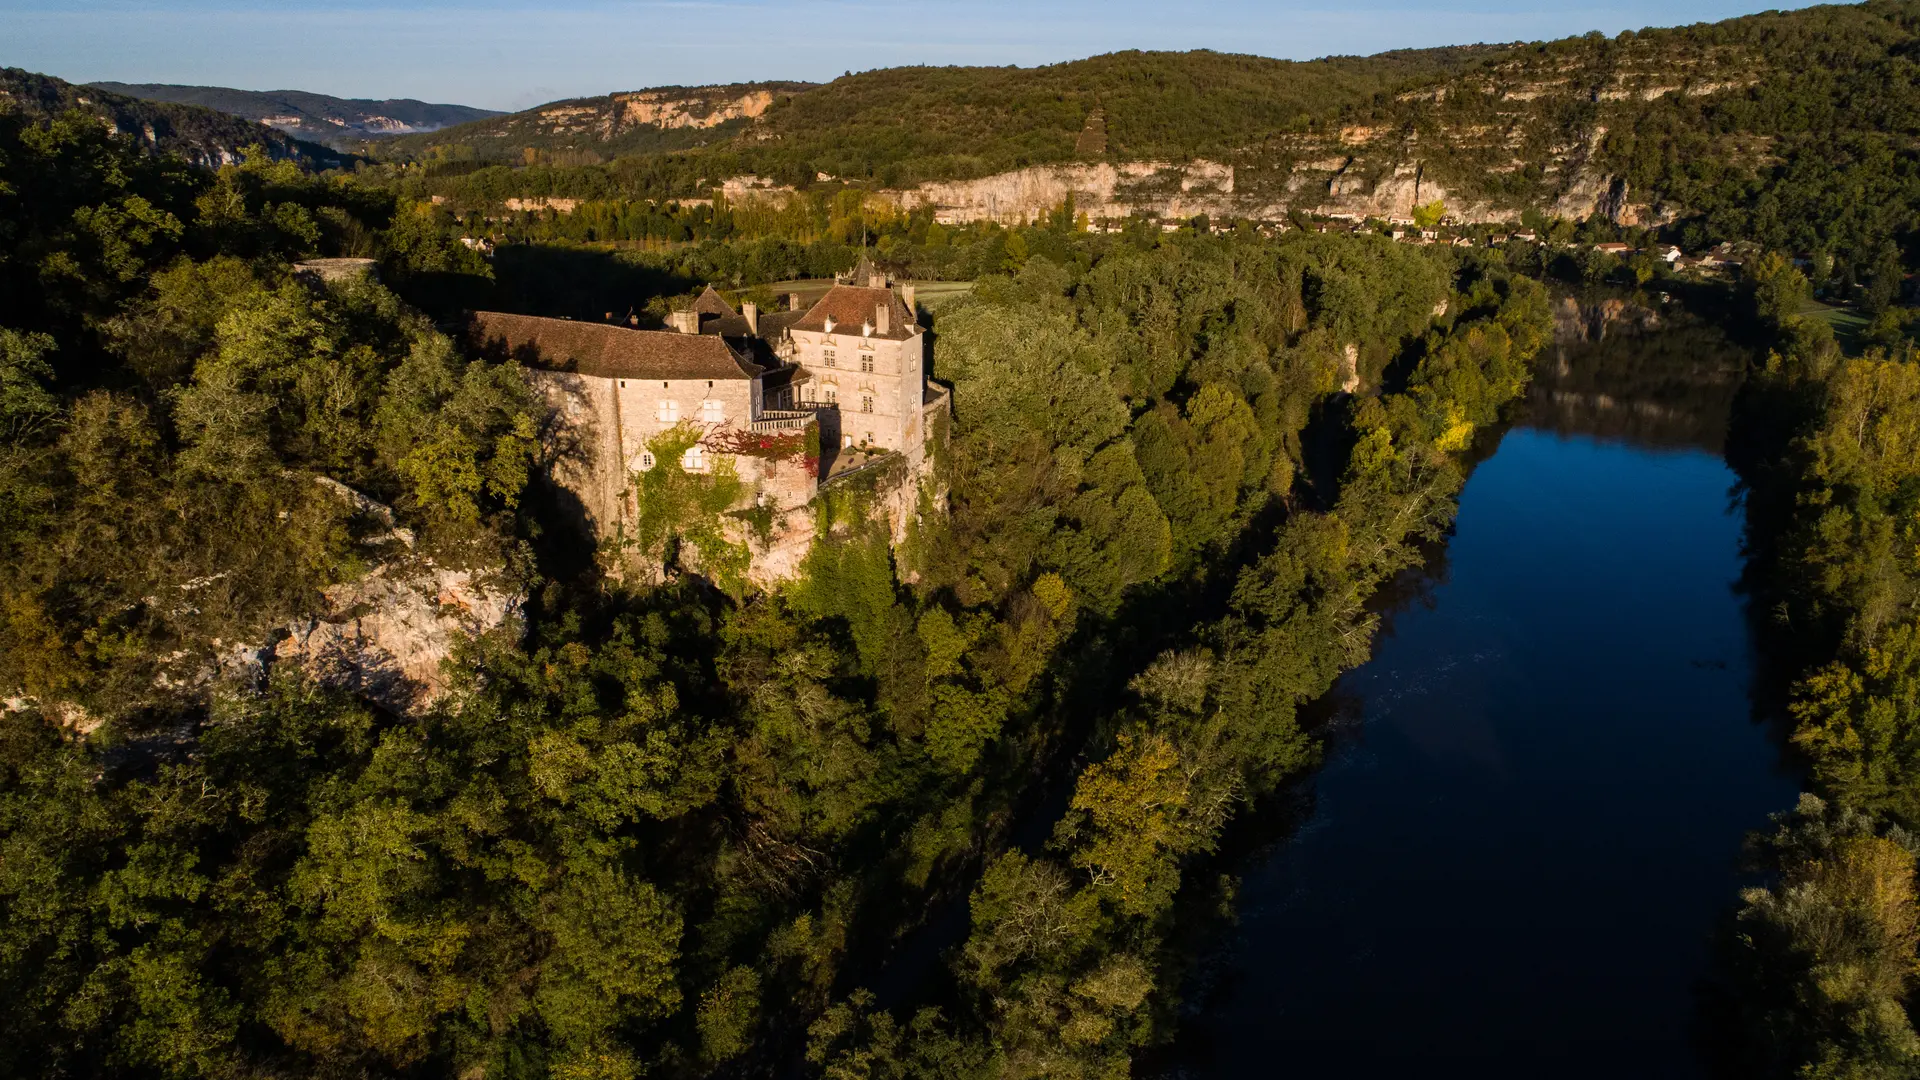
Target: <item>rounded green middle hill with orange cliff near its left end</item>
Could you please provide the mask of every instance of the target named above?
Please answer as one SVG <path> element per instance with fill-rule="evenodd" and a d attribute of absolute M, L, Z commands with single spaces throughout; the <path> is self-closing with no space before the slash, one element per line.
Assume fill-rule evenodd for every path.
<path fill-rule="evenodd" d="M 1308 61 L 1129 50 L 1044 67 L 885 67 L 820 86 L 659 86 L 396 138 L 380 154 L 520 161 L 532 150 L 557 163 L 589 163 L 726 146 L 783 183 L 829 173 L 887 184 L 1085 154 L 1185 160 L 1306 127 L 1505 50 L 1450 46 Z"/>

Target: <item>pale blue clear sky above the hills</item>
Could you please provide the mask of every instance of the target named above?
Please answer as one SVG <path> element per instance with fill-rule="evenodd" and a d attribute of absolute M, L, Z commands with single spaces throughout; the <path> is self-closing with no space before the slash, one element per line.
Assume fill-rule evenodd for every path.
<path fill-rule="evenodd" d="M 1801 4 L 1772 4 L 1795 8 Z M 0 0 L 0 65 L 518 110 L 659 86 L 1119 48 L 1308 60 L 1724 19 L 1747 0 Z"/>

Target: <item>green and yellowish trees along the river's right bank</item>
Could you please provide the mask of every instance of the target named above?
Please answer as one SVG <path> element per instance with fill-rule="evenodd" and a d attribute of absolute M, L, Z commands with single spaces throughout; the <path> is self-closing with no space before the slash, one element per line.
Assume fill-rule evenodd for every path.
<path fill-rule="evenodd" d="M 1749 317 L 1770 350 L 1741 390 L 1728 455 L 1812 792 L 1751 844 L 1764 884 L 1743 894 L 1715 1013 L 1736 1047 L 1728 1074 L 1910 1076 L 1920 380 L 1910 344 L 1845 354 L 1826 321 L 1799 313 L 1807 294 L 1778 256 L 1751 267 Z"/>

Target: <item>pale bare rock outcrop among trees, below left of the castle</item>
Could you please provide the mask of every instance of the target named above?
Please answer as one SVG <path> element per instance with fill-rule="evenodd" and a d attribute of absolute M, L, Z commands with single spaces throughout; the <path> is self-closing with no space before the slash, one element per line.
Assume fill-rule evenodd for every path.
<path fill-rule="evenodd" d="M 261 665 L 290 663 L 397 713 L 419 711 L 447 692 L 442 663 L 461 640 L 518 617 L 520 594 L 490 577 L 380 567 L 328 588 L 323 613 L 288 623 L 284 638 L 252 651 Z"/>

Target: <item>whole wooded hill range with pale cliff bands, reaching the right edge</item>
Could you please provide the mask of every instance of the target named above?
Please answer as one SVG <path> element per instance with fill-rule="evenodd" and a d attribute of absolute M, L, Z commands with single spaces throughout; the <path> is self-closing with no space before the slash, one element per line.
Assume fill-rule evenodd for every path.
<path fill-rule="evenodd" d="M 392 140 L 376 158 L 424 161 L 409 183 L 457 206 L 822 183 L 948 223 L 1031 221 L 1066 200 L 1092 219 L 1411 221 L 1440 204 L 1467 221 L 1688 219 L 1699 238 L 1864 250 L 1878 265 L 1912 234 L 1891 208 L 1920 206 L 1916 58 L 1920 0 L 1872 0 L 1315 61 L 1116 52 L 895 67 L 776 94 L 697 131 L 705 146 L 685 129 L 607 129 L 545 106 Z M 566 167 L 641 148 L 645 163 Z"/>

